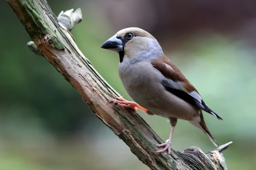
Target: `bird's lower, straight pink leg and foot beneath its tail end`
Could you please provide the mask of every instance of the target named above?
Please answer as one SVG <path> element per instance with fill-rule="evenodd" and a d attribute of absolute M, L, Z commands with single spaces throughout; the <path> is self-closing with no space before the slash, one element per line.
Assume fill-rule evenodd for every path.
<path fill-rule="evenodd" d="M 163 147 L 163 146 L 165 146 L 165 147 L 162 150 L 156 151 L 155 153 L 164 153 L 166 150 L 168 150 L 168 154 L 171 154 L 172 134 L 173 134 L 174 128 L 177 124 L 177 118 L 170 117 L 169 121 L 171 123 L 171 128 L 172 128 L 171 133 L 170 133 L 170 137 L 169 137 L 168 140 L 166 140 L 165 143 L 157 144 L 157 147 Z"/>

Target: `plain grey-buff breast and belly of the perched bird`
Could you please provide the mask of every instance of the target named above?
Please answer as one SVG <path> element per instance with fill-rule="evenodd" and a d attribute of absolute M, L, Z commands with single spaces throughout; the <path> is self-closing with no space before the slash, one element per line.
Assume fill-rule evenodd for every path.
<path fill-rule="evenodd" d="M 150 64 L 150 63 L 149 63 Z M 162 117 L 189 120 L 200 110 L 183 99 L 166 91 L 162 85 L 162 74 L 148 62 L 120 68 L 119 77 L 131 98 L 143 108 Z M 147 70 L 145 70 L 147 68 Z"/>

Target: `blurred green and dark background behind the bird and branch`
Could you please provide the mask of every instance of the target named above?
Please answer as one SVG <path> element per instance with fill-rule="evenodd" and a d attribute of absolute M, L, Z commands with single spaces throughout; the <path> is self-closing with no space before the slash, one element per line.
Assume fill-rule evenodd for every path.
<path fill-rule="evenodd" d="M 122 28 L 154 35 L 168 56 L 223 121 L 204 113 L 230 170 L 253 170 L 256 160 L 256 2 L 250 0 L 48 0 L 52 11 L 81 8 L 73 31 L 78 47 L 113 88 L 131 100 L 119 80 L 118 54 L 100 48 Z M 0 1 L 0 170 L 148 170 L 108 129 L 79 93 L 30 41 Z M 140 111 L 139 111 L 140 112 Z M 165 118 L 146 116 L 166 140 Z M 196 127 L 178 121 L 172 148 L 214 145 Z"/>

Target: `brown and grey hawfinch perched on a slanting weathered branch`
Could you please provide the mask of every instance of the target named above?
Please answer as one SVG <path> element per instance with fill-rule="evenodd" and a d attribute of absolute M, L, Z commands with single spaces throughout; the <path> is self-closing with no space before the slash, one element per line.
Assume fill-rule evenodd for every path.
<path fill-rule="evenodd" d="M 156 153 L 171 153 L 172 135 L 177 119 L 189 121 L 203 130 L 218 147 L 210 133 L 202 111 L 221 119 L 203 101 L 195 87 L 163 53 L 159 42 L 147 31 L 131 27 L 118 31 L 101 48 L 119 53 L 118 74 L 128 95 L 111 100 L 124 108 L 140 109 L 148 115 L 168 118 L 171 124 L 169 139 L 157 147 Z"/>

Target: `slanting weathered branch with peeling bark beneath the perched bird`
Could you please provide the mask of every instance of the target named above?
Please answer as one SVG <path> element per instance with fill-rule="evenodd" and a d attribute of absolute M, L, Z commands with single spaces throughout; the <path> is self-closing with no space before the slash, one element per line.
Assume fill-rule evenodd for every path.
<path fill-rule="evenodd" d="M 157 150 L 155 144 L 163 141 L 135 111 L 109 103 L 111 99 L 120 95 L 99 75 L 76 46 L 68 30 L 71 30 L 79 19 L 73 18 L 77 22 L 70 27 L 65 24 L 67 23 L 65 18 L 62 18 L 62 21 L 58 18 L 62 24 L 58 23 L 46 0 L 7 0 L 7 2 L 35 43 L 29 42 L 29 45 L 34 46 L 33 51 L 46 57 L 79 91 L 96 116 L 149 168 L 152 170 L 227 169 L 224 158 L 219 152 L 232 142 L 206 154 L 198 147 L 189 147 L 183 153 L 172 150 L 171 155 L 153 153 Z M 67 15 L 74 17 L 72 11 Z"/>

